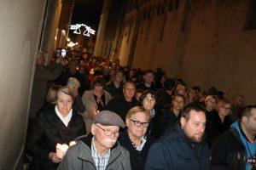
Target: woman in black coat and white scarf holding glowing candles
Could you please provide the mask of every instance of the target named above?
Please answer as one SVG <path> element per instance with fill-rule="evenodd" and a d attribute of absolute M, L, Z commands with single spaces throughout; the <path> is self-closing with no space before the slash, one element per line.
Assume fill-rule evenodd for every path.
<path fill-rule="evenodd" d="M 26 144 L 28 154 L 33 157 L 29 169 L 57 169 L 62 158 L 56 154 L 56 144 L 68 145 L 85 134 L 83 116 L 72 109 L 73 99 L 70 88 L 59 88 L 55 106 L 38 114 Z"/>

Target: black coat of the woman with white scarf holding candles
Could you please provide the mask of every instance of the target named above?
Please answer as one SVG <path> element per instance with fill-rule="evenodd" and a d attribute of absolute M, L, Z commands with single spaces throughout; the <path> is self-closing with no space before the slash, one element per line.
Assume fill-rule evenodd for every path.
<path fill-rule="evenodd" d="M 28 139 L 26 149 L 33 157 L 30 169 L 57 169 L 58 164 L 49 161 L 49 152 L 55 152 L 57 143 L 69 144 L 78 136 L 85 134 L 83 116 L 73 111 L 67 127 L 51 107 L 38 114 L 32 136 Z"/>

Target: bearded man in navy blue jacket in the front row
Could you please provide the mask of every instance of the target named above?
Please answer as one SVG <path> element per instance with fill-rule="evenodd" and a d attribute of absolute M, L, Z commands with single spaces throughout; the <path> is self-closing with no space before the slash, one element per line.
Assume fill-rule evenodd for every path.
<path fill-rule="evenodd" d="M 186 105 L 172 130 L 152 144 L 145 169 L 209 169 L 210 150 L 204 140 L 206 123 L 200 105 Z"/>

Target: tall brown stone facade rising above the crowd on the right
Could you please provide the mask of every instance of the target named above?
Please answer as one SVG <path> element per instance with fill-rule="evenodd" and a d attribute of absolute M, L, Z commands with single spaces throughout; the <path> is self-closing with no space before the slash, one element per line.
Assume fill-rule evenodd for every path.
<path fill-rule="evenodd" d="M 205 89 L 213 85 L 228 99 L 245 94 L 247 103 L 255 103 L 255 1 L 122 2 L 114 18 L 118 26 L 108 31 L 102 28 L 101 43 L 111 42 L 108 50 L 102 46 L 102 51 L 108 51 L 102 57 L 119 58 L 121 65 L 136 68 L 161 67 L 189 85 Z M 113 31 L 115 37 L 107 38 Z"/>

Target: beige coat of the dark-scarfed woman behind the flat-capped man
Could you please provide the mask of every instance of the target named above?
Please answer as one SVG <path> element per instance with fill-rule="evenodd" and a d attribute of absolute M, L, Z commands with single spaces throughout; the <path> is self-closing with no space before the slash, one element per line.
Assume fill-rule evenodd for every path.
<path fill-rule="evenodd" d="M 105 94 L 105 105 L 107 105 L 108 101 L 111 99 L 111 95 L 108 94 L 108 92 L 105 90 L 104 90 L 104 94 Z M 82 100 L 85 106 L 85 111 L 83 115 L 84 115 L 84 122 L 86 126 L 86 133 L 90 133 L 92 120 L 97 112 L 96 100 L 93 96 L 92 90 L 84 91 Z"/>

